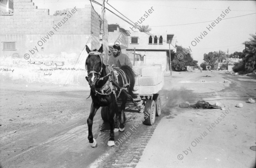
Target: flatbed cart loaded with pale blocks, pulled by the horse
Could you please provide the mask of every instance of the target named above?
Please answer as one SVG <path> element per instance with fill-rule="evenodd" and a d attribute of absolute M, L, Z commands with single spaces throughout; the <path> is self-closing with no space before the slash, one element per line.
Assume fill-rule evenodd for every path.
<path fill-rule="evenodd" d="M 131 100 L 127 101 L 125 112 L 143 113 L 143 123 L 151 126 L 154 124 L 155 116 L 161 115 L 161 99 L 157 92 L 163 87 L 163 72 L 160 65 L 134 67 L 134 71 L 138 74 L 134 87 L 135 94 L 140 98 L 135 100 L 137 106 Z M 117 101 L 119 110 L 121 104 L 122 101 Z M 108 107 L 102 107 L 101 116 L 104 121 L 108 121 Z"/>

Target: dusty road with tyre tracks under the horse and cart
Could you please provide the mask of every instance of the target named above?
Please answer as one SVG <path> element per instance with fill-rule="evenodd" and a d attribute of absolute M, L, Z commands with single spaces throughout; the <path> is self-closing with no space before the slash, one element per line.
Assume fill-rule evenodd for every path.
<path fill-rule="evenodd" d="M 249 167 L 255 158 L 250 147 L 256 146 L 256 104 L 245 101 L 256 99 L 255 82 L 224 71 L 166 73 L 160 91 L 163 114 L 154 126 L 141 124 L 142 114 L 127 112 L 125 132 L 115 133 L 116 146 L 110 148 L 109 126 L 98 111 L 93 122 L 98 146 L 91 148 L 88 90 L 2 81 L 0 164 L 4 168 Z M 223 111 L 178 107 L 199 100 L 218 101 L 230 110 L 205 137 L 201 134 Z M 240 102 L 243 108 L 234 107 Z M 201 141 L 194 147 L 196 138 Z M 192 153 L 186 154 L 189 147 Z M 183 154 L 182 160 L 178 154 Z"/>

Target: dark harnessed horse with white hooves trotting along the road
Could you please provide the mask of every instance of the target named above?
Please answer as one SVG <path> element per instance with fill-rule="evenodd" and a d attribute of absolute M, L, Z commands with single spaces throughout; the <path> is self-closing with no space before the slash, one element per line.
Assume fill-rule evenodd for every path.
<path fill-rule="evenodd" d="M 125 104 L 128 98 L 133 101 L 135 73 L 131 67 L 124 65 L 119 68 L 111 67 L 103 63 L 102 52 L 103 45 L 99 50 L 90 50 L 86 45 L 86 51 L 88 57 L 85 62 L 85 68 L 87 70 L 86 80 L 90 86 L 90 96 L 92 98 L 92 104 L 90 108 L 90 115 L 87 119 L 88 125 L 88 140 L 91 147 L 96 147 L 96 140 L 93 138 L 92 125 L 93 117 L 95 116 L 99 107 L 108 107 L 108 122 L 110 124 L 110 137 L 108 140 L 108 146 L 114 146 L 114 115 L 119 118 L 119 131 L 123 132 L 124 126 L 124 110 Z M 116 71 L 118 76 L 116 76 Z M 89 96 L 89 97 L 90 97 Z M 116 99 L 122 100 L 121 111 L 118 110 Z M 133 101 L 134 102 L 134 101 Z M 135 103 L 134 103 L 135 104 Z"/>

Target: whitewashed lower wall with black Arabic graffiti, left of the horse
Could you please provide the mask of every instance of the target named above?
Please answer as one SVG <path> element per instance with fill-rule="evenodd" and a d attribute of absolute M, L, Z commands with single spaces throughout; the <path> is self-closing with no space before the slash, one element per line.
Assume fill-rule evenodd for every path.
<path fill-rule="evenodd" d="M 20 46 L 29 45 L 29 41 L 38 39 L 40 35 L 3 35 L 12 39 L 24 41 Z M 1 39 L 3 39 L 1 36 Z M 73 49 L 65 48 L 67 42 Z M 105 48 L 107 42 L 103 42 Z M 99 41 L 92 35 L 55 35 L 45 43 L 46 50 L 39 50 L 31 55 L 29 59 L 24 59 L 20 50 L 11 56 L 4 55 L 0 58 L 0 78 L 12 81 L 25 81 L 27 83 L 42 82 L 59 85 L 83 85 L 89 89 L 85 76 L 85 60 L 87 52 L 85 45 L 90 49 L 99 49 Z M 97 46 L 97 47 L 95 47 Z M 23 50 L 21 50 L 23 52 Z M 11 52 L 14 51 L 9 51 Z M 24 52 L 26 50 L 24 49 Z M 106 51 L 108 52 L 108 51 Z"/>

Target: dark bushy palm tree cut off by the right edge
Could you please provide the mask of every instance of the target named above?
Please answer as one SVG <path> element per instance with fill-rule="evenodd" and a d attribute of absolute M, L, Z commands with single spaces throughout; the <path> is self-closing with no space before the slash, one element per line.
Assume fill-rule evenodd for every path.
<path fill-rule="evenodd" d="M 250 34 L 250 36 L 252 36 L 250 41 L 243 43 L 245 45 L 243 50 L 243 53 L 245 53 L 245 70 L 249 73 L 256 70 L 256 35 Z"/>

